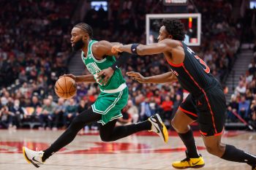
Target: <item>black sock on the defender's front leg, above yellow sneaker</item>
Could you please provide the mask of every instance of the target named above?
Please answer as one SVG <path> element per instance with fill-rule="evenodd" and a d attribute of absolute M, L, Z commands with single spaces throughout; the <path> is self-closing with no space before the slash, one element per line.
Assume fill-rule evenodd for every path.
<path fill-rule="evenodd" d="M 197 152 L 197 146 L 195 145 L 195 139 L 191 128 L 186 134 L 178 134 L 178 136 L 181 137 L 181 140 L 187 147 L 189 158 L 199 158 L 200 155 Z"/>

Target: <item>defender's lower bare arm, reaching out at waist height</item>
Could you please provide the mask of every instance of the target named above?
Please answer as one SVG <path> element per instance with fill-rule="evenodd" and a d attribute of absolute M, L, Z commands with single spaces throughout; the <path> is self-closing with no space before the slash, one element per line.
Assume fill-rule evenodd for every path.
<path fill-rule="evenodd" d="M 177 81 L 177 77 L 173 72 L 167 72 L 151 77 L 143 77 L 143 75 L 138 72 L 127 72 L 127 75 L 132 77 L 132 80 L 136 80 L 140 83 L 165 83 Z"/>

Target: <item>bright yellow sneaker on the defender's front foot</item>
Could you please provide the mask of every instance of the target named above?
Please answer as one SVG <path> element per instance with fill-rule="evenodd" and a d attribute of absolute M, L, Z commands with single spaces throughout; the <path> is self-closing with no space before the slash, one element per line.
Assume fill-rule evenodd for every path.
<path fill-rule="evenodd" d="M 187 152 L 186 152 L 187 155 Z M 200 155 L 199 158 L 189 158 L 187 155 L 187 158 L 185 158 L 182 161 L 177 161 L 172 163 L 173 168 L 176 169 L 199 169 L 205 166 L 205 162 L 203 161 L 202 155 Z"/>

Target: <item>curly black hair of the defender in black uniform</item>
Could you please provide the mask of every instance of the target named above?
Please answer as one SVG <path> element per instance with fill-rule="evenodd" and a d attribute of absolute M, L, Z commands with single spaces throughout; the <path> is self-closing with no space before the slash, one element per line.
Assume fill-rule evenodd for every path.
<path fill-rule="evenodd" d="M 173 36 L 173 39 L 183 41 L 185 38 L 184 25 L 181 20 L 177 19 L 163 19 L 162 26 L 165 30 Z"/>

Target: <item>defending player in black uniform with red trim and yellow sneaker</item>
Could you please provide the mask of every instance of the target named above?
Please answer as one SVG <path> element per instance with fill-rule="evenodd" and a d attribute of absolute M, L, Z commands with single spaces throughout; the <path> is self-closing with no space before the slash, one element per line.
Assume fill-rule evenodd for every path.
<path fill-rule="evenodd" d="M 256 155 L 221 142 L 226 112 L 225 94 L 222 86 L 211 75 L 206 63 L 184 44 L 184 26 L 181 21 L 162 20 L 158 40 L 158 43 L 151 45 L 117 45 L 112 50 L 135 55 L 163 53 L 172 73 L 161 74 L 157 80 L 154 77 L 154 81 L 167 82 L 170 80 L 168 77 L 175 75 L 181 86 L 189 91 L 189 96 L 178 108 L 172 120 L 173 128 L 187 147 L 187 158 L 174 162 L 173 167 L 186 169 L 204 166 L 203 158 L 197 152 L 192 130 L 189 128 L 189 124 L 197 120 L 209 153 L 227 161 L 247 163 L 252 166 L 252 170 L 256 170 Z"/>

